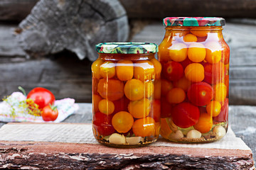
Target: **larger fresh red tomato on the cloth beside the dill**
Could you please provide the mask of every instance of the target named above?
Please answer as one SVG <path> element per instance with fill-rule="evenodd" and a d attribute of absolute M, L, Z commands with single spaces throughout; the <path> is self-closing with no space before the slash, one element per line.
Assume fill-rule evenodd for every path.
<path fill-rule="evenodd" d="M 55 96 L 48 89 L 43 87 L 36 87 L 32 89 L 27 98 L 31 98 L 37 105 L 39 109 L 42 109 L 48 105 L 53 105 L 55 102 Z"/>

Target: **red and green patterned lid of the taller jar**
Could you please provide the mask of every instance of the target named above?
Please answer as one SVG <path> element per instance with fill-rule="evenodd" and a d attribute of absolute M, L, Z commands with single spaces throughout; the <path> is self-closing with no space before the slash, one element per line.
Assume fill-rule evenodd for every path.
<path fill-rule="evenodd" d="M 164 26 L 224 26 L 225 19 L 219 17 L 167 17 Z"/>

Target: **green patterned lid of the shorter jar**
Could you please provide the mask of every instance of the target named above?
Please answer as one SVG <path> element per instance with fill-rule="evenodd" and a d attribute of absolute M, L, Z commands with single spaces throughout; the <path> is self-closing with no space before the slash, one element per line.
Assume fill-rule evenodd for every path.
<path fill-rule="evenodd" d="M 95 50 L 106 54 L 146 54 L 158 51 L 158 46 L 149 42 L 104 42 L 95 45 Z"/>

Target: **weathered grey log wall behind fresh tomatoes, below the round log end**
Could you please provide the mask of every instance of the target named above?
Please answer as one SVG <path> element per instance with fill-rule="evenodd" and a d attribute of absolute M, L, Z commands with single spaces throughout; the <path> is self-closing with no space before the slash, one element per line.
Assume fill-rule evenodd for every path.
<path fill-rule="evenodd" d="M 4 98 L 18 91 L 18 86 L 27 93 L 36 86 L 43 86 L 57 99 L 69 97 L 76 102 L 91 102 L 90 65 L 89 60 L 79 60 L 70 52 L 39 60 L 0 57 L 0 96 Z"/>

